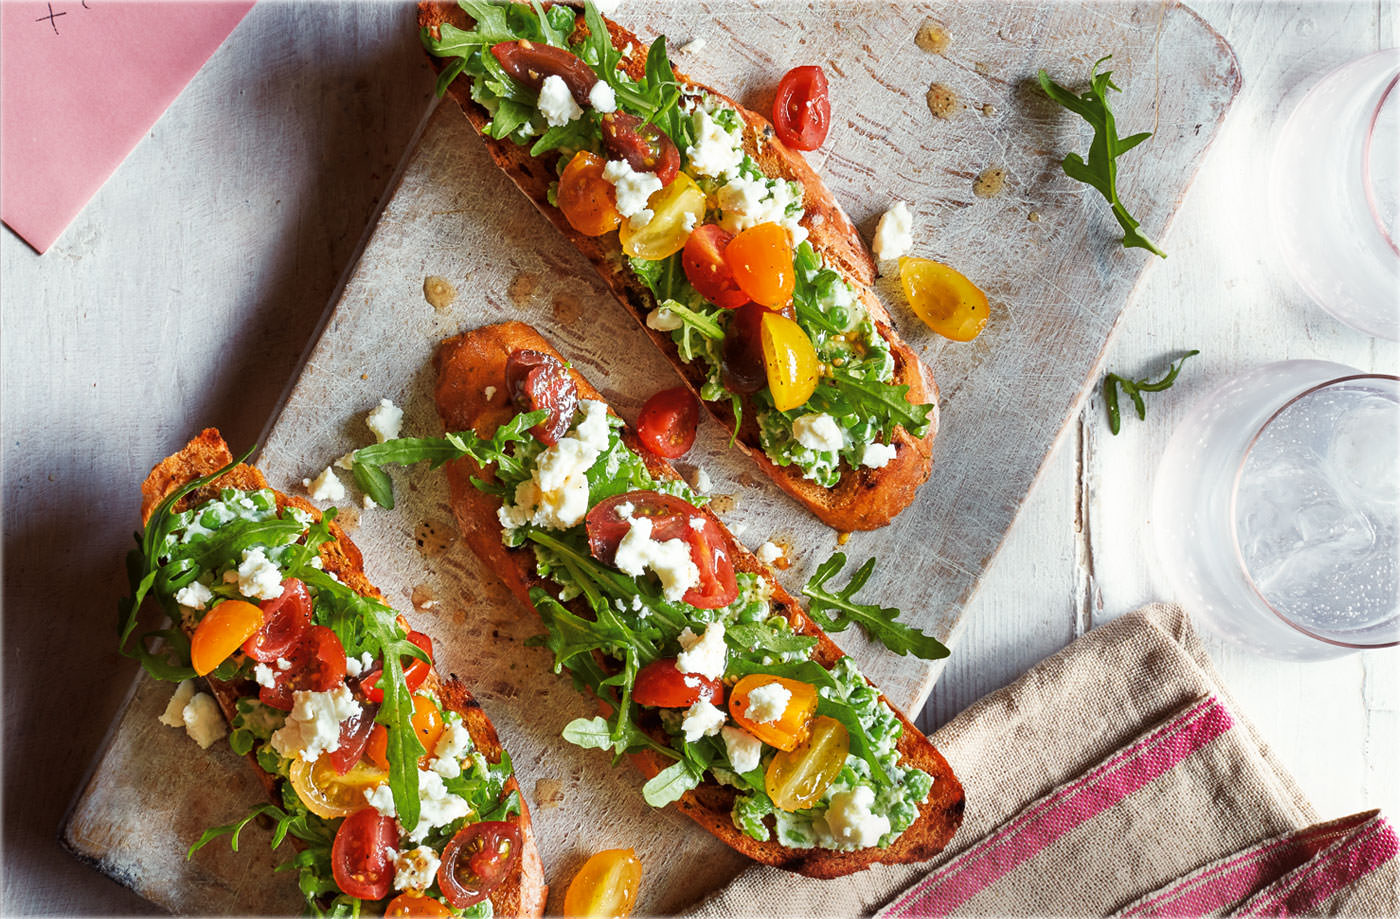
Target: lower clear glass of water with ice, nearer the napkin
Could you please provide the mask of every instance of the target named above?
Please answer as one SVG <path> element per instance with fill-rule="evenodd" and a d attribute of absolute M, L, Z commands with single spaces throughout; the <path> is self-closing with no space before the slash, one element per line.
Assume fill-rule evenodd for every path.
<path fill-rule="evenodd" d="M 1256 651 L 1400 644 L 1400 378 L 1291 360 L 1207 396 L 1152 502 L 1182 602 Z"/>

